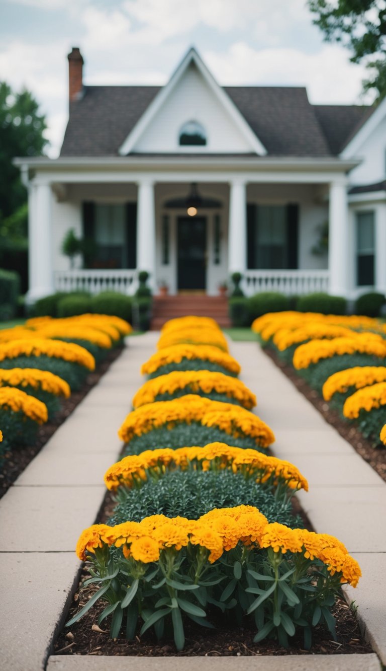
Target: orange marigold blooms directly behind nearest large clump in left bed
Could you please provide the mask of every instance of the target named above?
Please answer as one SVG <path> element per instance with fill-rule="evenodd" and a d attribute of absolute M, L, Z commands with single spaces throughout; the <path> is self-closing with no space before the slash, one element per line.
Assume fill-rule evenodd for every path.
<path fill-rule="evenodd" d="M 49 370 L 39 368 L 0 368 L 1 386 L 31 386 L 55 396 L 70 397 L 70 385 Z"/>

